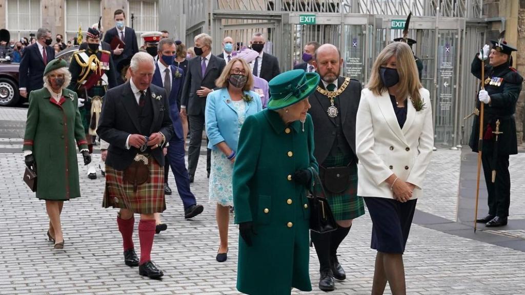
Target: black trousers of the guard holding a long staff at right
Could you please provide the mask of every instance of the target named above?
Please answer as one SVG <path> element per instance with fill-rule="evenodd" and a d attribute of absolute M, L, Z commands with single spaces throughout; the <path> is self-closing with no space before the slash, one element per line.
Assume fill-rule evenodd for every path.
<path fill-rule="evenodd" d="M 494 163 L 491 152 L 482 153 L 481 163 L 487 183 L 489 214 L 499 217 L 509 216 L 510 173 L 509 155 L 498 155 Z M 496 181 L 492 183 L 492 170 L 496 170 Z"/>

